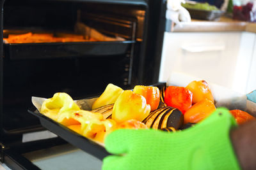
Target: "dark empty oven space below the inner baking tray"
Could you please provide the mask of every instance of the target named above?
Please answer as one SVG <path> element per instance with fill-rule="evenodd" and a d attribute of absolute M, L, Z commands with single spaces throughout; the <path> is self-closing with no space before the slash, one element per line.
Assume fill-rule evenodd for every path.
<path fill-rule="evenodd" d="M 74 99 L 94 96 L 108 83 L 124 87 L 129 72 L 126 55 L 64 59 L 4 60 L 4 127 L 38 124 L 28 113 L 31 96 L 67 92 Z"/>

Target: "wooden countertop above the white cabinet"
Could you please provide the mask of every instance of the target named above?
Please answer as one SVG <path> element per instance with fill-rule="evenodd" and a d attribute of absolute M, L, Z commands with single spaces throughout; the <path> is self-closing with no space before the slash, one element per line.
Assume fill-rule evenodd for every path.
<path fill-rule="evenodd" d="M 172 25 L 172 32 L 217 32 L 217 31 L 247 31 L 256 32 L 256 23 L 232 20 L 221 17 L 218 21 L 192 20 Z"/>

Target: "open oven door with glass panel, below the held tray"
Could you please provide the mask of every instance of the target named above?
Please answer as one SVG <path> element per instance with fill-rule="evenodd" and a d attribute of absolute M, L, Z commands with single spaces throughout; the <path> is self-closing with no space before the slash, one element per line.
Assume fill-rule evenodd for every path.
<path fill-rule="evenodd" d="M 102 160 L 70 144 L 53 146 L 24 154 L 4 150 L 6 169 L 101 169 Z"/>

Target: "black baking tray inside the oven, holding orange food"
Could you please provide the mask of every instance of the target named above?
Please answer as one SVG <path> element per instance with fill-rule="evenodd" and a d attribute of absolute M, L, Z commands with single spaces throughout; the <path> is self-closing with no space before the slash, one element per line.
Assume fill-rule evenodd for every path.
<path fill-rule="evenodd" d="M 6 43 L 4 57 L 12 60 L 120 55 L 135 41 L 86 41 L 65 43 Z"/>

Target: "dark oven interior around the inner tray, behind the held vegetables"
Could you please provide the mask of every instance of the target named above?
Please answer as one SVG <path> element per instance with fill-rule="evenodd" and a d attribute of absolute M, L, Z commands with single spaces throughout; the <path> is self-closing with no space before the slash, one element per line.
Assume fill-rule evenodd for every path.
<path fill-rule="evenodd" d="M 27 111 L 31 96 L 49 98 L 55 92 L 67 92 L 74 99 L 81 99 L 99 94 L 108 83 L 129 89 L 138 81 L 136 69 L 143 41 L 145 6 L 9 0 L 4 3 L 3 16 L 4 38 L 28 32 L 77 34 L 79 23 L 114 39 L 4 43 L 5 134 L 19 136 L 26 129 L 38 128 L 38 120 Z"/>

